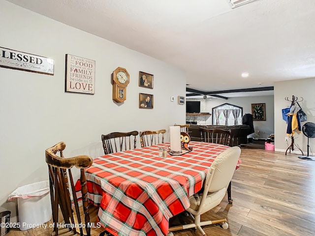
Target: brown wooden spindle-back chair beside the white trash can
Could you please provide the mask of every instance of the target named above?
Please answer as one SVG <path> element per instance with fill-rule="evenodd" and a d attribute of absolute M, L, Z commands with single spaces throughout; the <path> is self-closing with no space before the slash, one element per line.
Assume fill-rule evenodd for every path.
<path fill-rule="evenodd" d="M 73 235 L 80 234 L 81 236 L 106 236 L 105 230 L 97 227 L 98 209 L 90 205 L 88 200 L 85 169 L 92 165 L 93 160 L 86 155 L 64 158 L 64 148 L 65 143 L 60 142 L 45 150 L 54 223 L 52 235 L 68 235 L 71 232 Z M 72 167 L 80 169 L 83 205 L 81 207 L 79 207 L 75 191 L 76 179 L 73 179 Z M 64 223 L 65 228 L 61 227 L 61 222 Z M 82 227 L 84 225 L 85 228 Z"/>

